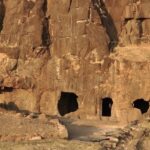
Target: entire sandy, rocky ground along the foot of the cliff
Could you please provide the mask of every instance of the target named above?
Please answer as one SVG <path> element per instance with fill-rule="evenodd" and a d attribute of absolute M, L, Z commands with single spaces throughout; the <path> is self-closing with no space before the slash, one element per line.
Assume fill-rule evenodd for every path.
<path fill-rule="evenodd" d="M 128 126 L 0 109 L 0 150 L 149 150 L 150 119 Z"/>

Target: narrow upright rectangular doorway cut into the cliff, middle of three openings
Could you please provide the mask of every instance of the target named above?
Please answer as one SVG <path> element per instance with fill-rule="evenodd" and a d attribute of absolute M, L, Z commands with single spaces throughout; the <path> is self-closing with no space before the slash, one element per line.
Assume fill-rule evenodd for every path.
<path fill-rule="evenodd" d="M 102 99 L 102 116 L 110 117 L 113 101 L 111 98 L 106 97 Z"/>

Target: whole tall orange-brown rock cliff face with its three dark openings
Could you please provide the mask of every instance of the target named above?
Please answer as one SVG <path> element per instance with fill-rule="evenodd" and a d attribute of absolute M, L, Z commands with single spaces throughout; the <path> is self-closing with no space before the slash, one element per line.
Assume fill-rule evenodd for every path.
<path fill-rule="evenodd" d="M 148 115 L 149 6 L 0 0 L 0 102 L 124 122 Z"/>

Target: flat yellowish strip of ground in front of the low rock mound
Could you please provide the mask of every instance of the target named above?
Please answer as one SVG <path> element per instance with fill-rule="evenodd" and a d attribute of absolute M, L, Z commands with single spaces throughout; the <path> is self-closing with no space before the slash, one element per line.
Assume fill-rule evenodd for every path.
<path fill-rule="evenodd" d="M 43 140 L 19 143 L 0 143 L 0 150 L 101 150 L 98 143 L 66 141 L 66 140 Z"/>

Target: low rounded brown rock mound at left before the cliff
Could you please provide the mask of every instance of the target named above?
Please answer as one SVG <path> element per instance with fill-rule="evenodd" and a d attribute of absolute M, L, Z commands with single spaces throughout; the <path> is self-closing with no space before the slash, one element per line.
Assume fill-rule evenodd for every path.
<path fill-rule="evenodd" d="M 23 114 L 0 110 L 0 142 L 20 142 L 46 139 L 68 139 L 68 131 L 58 119 L 39 114 Z"/>

